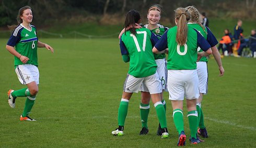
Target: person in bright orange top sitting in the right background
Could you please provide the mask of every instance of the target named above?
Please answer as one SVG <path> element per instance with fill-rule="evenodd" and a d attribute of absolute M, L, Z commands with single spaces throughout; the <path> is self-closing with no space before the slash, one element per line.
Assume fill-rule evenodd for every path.
<path fill-rule="evenodd" d="M 228 56 L 228 50 L 231 43 L 231 38 L 229 36 L 229 30 L 224 30 L 225 35 L 222 37 L 222 40 L 219 41 L 218 50 L 222 49 L 224 56 Z"/>

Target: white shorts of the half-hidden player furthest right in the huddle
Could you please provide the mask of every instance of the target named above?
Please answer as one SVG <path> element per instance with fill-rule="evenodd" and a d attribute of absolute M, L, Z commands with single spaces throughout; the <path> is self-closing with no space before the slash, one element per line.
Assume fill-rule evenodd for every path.
<path fill-rule="evenodd" d="M 199 92 L 208 93 L 208 69 L 206 61 L 197 61 L 196 70 L 199 79 Z"/>

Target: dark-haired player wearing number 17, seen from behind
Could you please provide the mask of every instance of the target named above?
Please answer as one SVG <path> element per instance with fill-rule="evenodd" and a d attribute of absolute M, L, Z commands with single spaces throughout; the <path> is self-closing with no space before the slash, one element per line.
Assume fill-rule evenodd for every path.
<path fill-rule="evenodd" d="M 125 28 L 140 23 L 141 17 L 135 10 L 126 14 Z M 123 86 L 123 95 L 118 109 L 119 128 L 112 131 L 113 135 L 123 135 L 123 127 L 127 109 L 133 92 L 138 92 L 142 82 L 146 85 L 156 108 L 162 127 L 162 138 L 168 138 L 165 108 L 160 100 L 161 82 L 157 74 L 157 65 L 152 48 L 158 41 L 157 36 L 146 28 L 125 31 L 120 39 L 120 48 L 125 62 L 130 61 L 130 68 Z"/>

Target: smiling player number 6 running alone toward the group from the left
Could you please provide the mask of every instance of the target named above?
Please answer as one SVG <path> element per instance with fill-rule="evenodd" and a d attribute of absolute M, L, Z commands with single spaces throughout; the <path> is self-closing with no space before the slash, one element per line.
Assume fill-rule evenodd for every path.
<path fill-rule="evenodd" d="M 25 6 L 19 9 L 17 17 L 18 25 L 8 26 L 14 30 L 6 45 L 6 49 L 13 54 L 15 72 L 21 84 L 27 88 L 8 91 L 8 103 L 11 108 L 15 107 L 17 97 L 27 96 L 23 114 L 20 120 L 36 121 L 28 115 L 33 107 L 38 93 L 39 70 L 37 47 L 45 47 L 53 52 L 53 48 L 46 43 L 38 41 L 36 27 L 32 26 L 33 15 L 31 7 Z M 15 48 L 14 48 L 15 46 Z"/>

